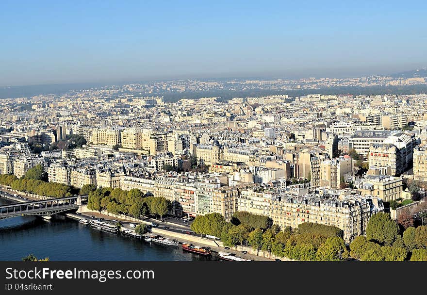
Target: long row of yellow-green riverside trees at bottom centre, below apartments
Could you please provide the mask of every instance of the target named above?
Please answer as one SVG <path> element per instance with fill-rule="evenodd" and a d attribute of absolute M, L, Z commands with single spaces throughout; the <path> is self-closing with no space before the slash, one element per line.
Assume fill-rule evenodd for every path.
<path fill-rule="evenodd" d="M 255 227 L 254 227 L 255 226 Z M 246 243 L 254 250 L 270 256 L 294 260 L 339 261 L 347 259 L 349 251 L 343 231 L 337 227 L 303 223 L 298 229 L 281 230 L 271 219 L 247 212 L 233 214 L 227 222 L 219 213 L 197 216 L 191 225 L 197 233 L 221 237 L 224 246 L 237 247 Z"/>

